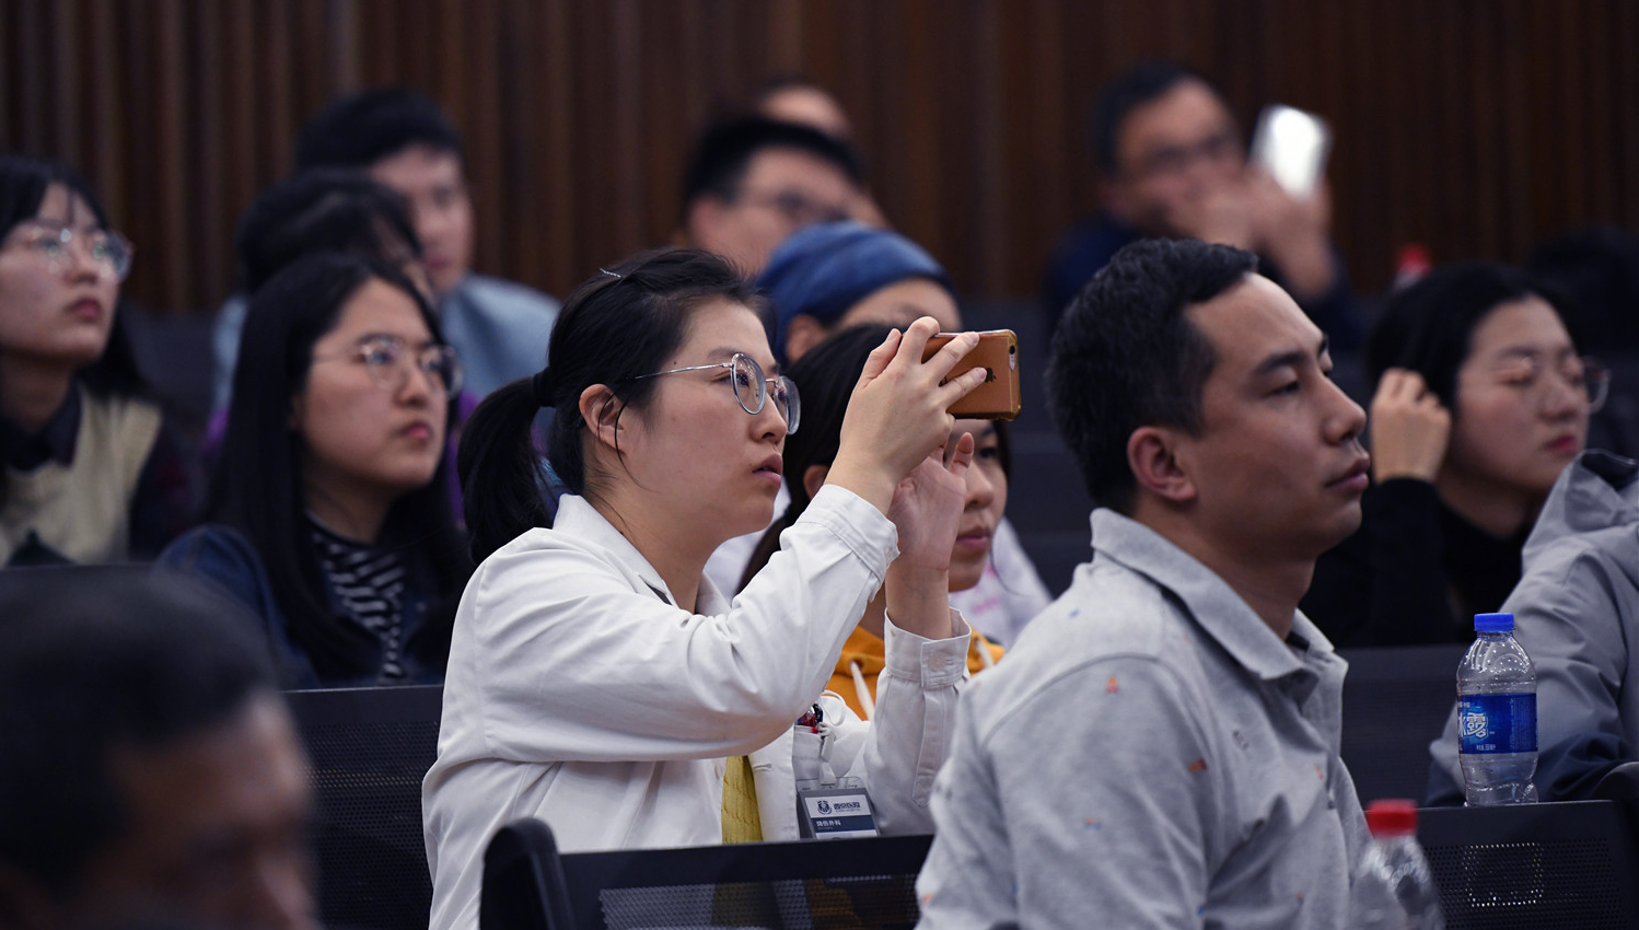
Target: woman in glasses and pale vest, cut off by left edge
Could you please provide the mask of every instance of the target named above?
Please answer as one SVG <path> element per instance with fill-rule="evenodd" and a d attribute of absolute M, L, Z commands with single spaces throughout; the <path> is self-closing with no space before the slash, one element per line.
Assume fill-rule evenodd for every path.
<path fill-rule="evenodd" d="M 0 564 L 152 558 L 187 525 L 116 312 L 131 254 L 74 169 L 0 156 Z"/>

